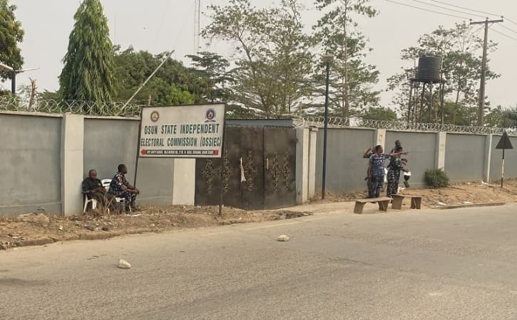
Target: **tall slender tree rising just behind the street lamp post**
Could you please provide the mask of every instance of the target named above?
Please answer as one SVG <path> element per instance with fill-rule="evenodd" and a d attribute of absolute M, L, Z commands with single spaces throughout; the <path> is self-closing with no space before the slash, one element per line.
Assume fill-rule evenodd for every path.
<path fill-rule="evenodd" d="M 379 81 L 379 71 L 363 61 L 371 49 L 354 20 L 355 16 L 377 15 L 368 3 L 369 0 L 316 0 L 317 9 L 325 14 L 313 26 L 314 36 L 321 43 L 323 54 L 334 55 L 329 107 L 342 117 L 379 102 L 379 92 L 372 90 L 372 85 Z M 319 74 L 322 68 L 323 64 Z"/>

